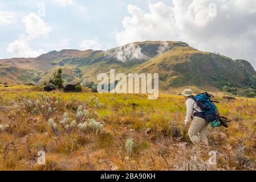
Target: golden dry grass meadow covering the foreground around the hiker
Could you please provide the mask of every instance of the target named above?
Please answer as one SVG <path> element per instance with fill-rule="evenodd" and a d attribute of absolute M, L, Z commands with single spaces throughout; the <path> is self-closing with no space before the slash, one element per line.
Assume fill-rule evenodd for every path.
<path fill-rule="evenodd" d="M 181 96 L 163 94 L 158 100 L 147 100 L 140 94 L 46 93 L 35 86 L 1 87 L 0 169 L 254 170 L 256 100 L 226 101 L 217 95 L 221 114 L 233 122 L 228 129 L 209 127 L 209 148 L 198 148 L 182 127 L 186 108 Z M 27 108 L 29 100 L 38 100 L 40 106 L 48 102 L 52 113 L 38 106 Z M 87 119 L 103 124 L 99 133 L 62 126 L 63 114 L 68 114 L 70 125 L 80 105 L 89 111 Z M 47 117 L 56 123 L 58 133 Z M 130 154 L 129 138 L 133 141 Z M 45 165 L 37 163 L 38 151 L 46 152 Z M 218 152 L 216 165 L 208 163 L 209 151 Z"/>

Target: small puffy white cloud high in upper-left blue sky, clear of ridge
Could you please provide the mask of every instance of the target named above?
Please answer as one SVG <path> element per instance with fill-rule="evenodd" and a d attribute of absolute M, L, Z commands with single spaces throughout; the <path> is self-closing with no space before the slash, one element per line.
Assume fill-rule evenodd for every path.
<path fill-rule="evenodd" d="M 38 36 L 47 36 L 52 30 L 50 26 L 44 23 L 43 19 L 35 13 L 30 13 L 22 20 L 26 27 L 29 38 L 34 39 Z"/>

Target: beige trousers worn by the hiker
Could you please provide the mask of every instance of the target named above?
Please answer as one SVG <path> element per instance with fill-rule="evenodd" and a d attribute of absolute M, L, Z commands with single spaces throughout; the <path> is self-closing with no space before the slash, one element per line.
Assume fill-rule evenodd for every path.
<path fill-rule="evenodd" d="M 200 118 L 200 117 L 193 118 L 192 123 L 189 127 L 188 135 L 190 140 L 194 144 L 198 144 L 199 142 L 208 144 L 208 140 L 206 138 L 207 126 L 208 126 L 208 122 L 206 122 L 204 118 Z"/>

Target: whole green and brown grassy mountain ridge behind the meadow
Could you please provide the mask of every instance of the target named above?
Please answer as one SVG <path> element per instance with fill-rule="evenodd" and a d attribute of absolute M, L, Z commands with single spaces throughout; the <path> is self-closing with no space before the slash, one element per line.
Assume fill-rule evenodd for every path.
<path fill-rule="evenodd" d="M 136 42 L 108 51 L 64 49 L 36 58 L 0 60 L 0 82 L 42 84 L 59 68 L 66 84 L 96 82 L 99 73 L 115 68 L 116 73 L 159 73 L 165 92 L 196 86 L 256 96 L 256 72 L 248 61 L 202 52 L 182 42 Z"/>

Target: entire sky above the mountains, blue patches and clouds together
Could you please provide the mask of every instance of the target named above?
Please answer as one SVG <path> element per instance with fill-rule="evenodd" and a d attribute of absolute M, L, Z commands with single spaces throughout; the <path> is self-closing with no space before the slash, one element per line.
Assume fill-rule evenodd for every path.
<path fill-rule="evenodd" d="M 254 0 L 0 0 L 0 59 L 179 40 L 255 66 L 255 22 Z"/>

